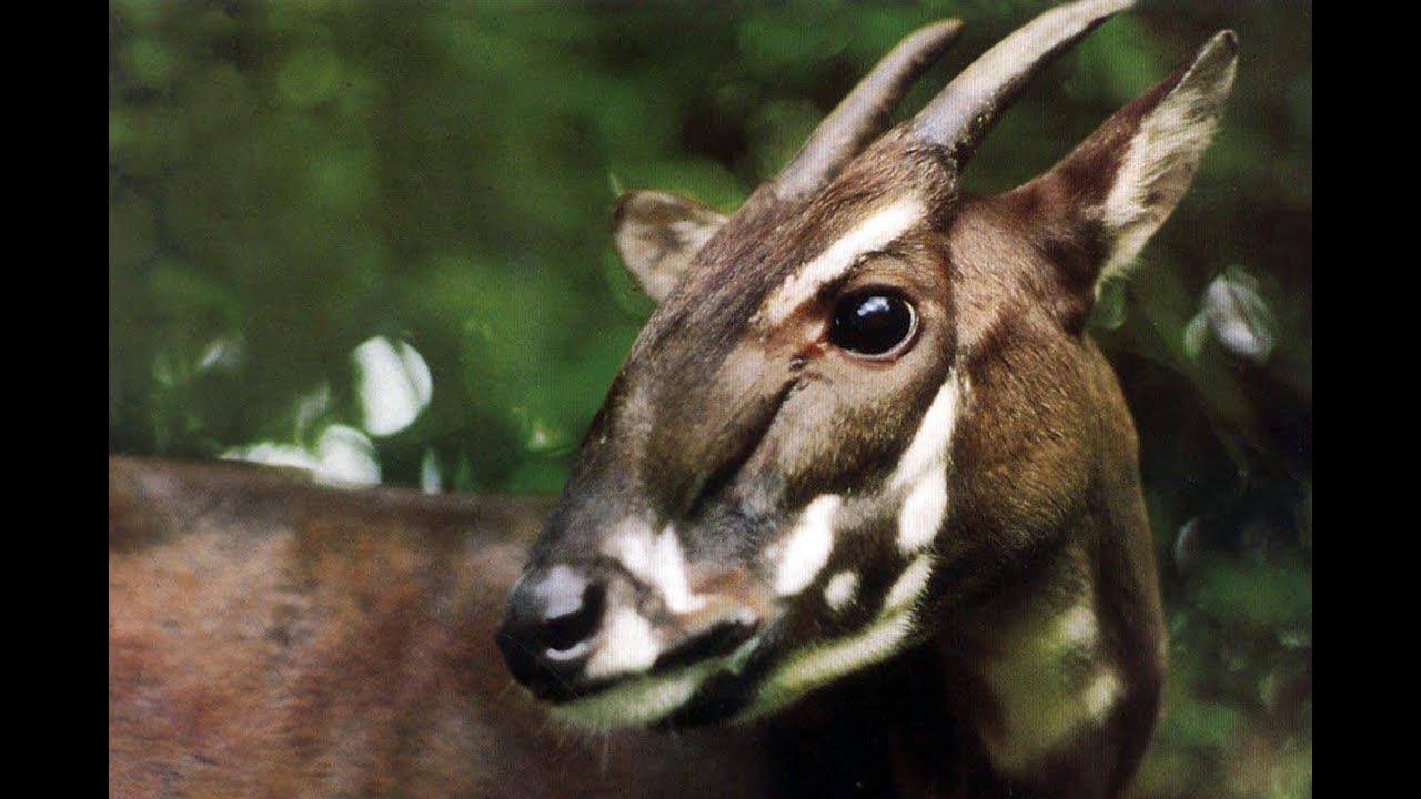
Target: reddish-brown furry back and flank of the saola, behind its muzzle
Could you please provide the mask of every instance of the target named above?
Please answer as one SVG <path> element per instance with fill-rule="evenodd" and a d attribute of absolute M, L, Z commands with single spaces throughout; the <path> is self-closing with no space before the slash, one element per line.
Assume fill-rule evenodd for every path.
<path fill-rule="evenodd" d="M 764 795 L 752 734 L 550 722 L 492 645 L 547 499 L 109 461 L 109 795 Z"/>

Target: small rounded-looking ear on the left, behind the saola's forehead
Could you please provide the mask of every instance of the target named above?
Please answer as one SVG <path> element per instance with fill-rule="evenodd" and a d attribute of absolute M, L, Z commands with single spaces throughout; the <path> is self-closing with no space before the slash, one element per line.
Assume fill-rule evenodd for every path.
<path fill-rule="evenodd" d="M 612 212 L 612 239 L 642 291 L 661 303 L 725 215 L 666 192 L 627 192 Z"/>

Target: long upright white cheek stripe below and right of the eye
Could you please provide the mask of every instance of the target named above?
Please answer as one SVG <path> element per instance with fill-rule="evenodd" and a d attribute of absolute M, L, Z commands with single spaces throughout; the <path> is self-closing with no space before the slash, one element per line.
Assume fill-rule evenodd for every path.
<path fill-rule="evenodd" d="M 908 492 L 898 510 L 898 550 L 904 554 L 931 545 L 942 527 L 948 512 L 952 432 L 968 388 L 968 380 L 959 372 L 948 374 L 888 481 L 890 488 Z"/>

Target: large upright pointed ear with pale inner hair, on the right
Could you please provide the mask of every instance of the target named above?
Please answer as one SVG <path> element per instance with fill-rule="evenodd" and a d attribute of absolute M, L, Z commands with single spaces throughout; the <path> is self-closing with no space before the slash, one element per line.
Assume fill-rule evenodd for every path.
<path fill-rule="evenodd" d="M 1096 257 L 1070 283 L 1124 276 L 1184 196 L 1233 88 L 1238 37 L 1221 31 L 1172 75 L 1117 111 L 1050 172 L 1017 189 Z M 1013 193 L 1017 193 L 1013 192 Z"/>

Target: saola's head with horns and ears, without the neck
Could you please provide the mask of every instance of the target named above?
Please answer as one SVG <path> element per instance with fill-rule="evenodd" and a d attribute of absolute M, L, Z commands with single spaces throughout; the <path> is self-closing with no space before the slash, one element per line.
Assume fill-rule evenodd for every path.
<path fill-rule="evenodd" d="M 603 726 L 759 715 L 931 636 L 1088 512 L 1086 317 L 1188 186 L 1233 34 L 1027 185 L 959 178 L 1125 4 L 1047 11 L 878 136 L 959 26 L 917 31 L 735 216 L 622 198 L 658 307 L 512 593 L 522 682 Z"/>

